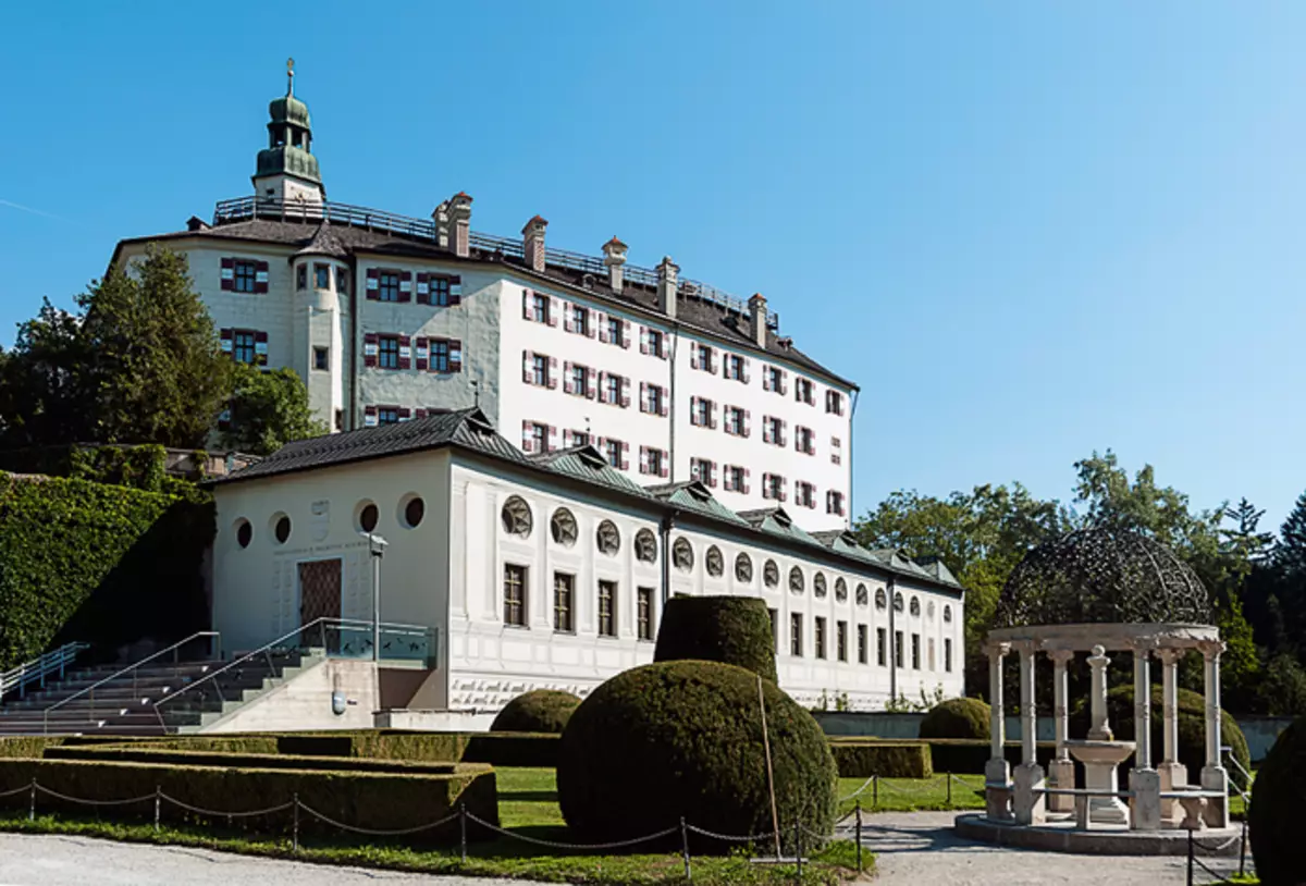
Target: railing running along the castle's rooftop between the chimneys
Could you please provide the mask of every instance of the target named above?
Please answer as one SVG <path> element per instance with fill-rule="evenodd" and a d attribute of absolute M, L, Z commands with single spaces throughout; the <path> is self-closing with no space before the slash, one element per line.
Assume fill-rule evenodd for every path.
<path fill-rule="evenodd" d="M 214 225 L 229 225 L 231 222 L 252 221 L 256 218 L 272 221 L 298 221 L 320 222 L 329 221 L 333 225 L 349 225 L 371 231 L 385 231 L 400 237 L 439 243 L 439 231 L 435 222 L 413 216 L 397 216 L 380 209 L 367 206 L 351 206 L 345 203 L 306 203 L 303 200 L 281 200 L 279 197 L 236 197 L 235 200 L 221 200 L 213 212 Z M 520 239 L 509 237 L 496 237 L 495 234 L 481 234 L 471 231 L 469 238 L 471 248 L 483 252 L 496 252 L 513 259 L 522 259 L 524 250 Z M 545 261 L 558 268 L 568 268 L 581 273 L 606 276 L 607 267 L 598 256 L 572 252 L 569 250 L 545 248 Z M 643 286 L 657 286 L 658 273 L 656 268 L 644 268 L 637 264 L 626 265 L 626 278 L 632 284 Z M 733 311 L 741 316 L 748 316 L 748 304 L 742 298 L 731 295 L 716 286 L 710 286 L 699 280 L 688 277 L 680 280 L 680 294 L 686 298 L 696 298 L 709 302 L 725 311 Z M 780 331 L 780 315 L 774 311 L 767 312 L 767 327 Z"/>

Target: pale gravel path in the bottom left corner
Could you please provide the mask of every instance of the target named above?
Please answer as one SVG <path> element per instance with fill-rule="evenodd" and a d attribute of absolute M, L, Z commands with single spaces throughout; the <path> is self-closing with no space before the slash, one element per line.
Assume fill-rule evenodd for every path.
<path fill-rule="evenodd" d="M 521 886 L 481 877 L 422 877 L 393 870 L 328 868 L 85 836 L 0 834 L 0 886 Z"/>

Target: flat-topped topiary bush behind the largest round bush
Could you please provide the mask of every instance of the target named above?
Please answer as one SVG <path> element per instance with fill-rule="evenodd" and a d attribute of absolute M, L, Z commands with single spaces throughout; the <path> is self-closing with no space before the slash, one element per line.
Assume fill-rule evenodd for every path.
<path fill-rule="evenodd" d="M 673 597 L 662 612 L 654 661 L 724 661 L 776 682 L 771 612 L 757 597 Z"/>

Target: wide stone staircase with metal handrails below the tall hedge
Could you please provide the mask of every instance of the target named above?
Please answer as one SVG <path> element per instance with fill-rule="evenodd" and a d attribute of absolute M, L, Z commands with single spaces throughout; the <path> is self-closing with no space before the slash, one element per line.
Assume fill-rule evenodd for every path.
<path fill-rule="evenodd" d="M 0 737 L 201 732 L 325 657 L 325 649 L 302 649 L 268 652 L 226 670 L 217 660 L 148 663 L 116 677 L 123 664 L 69 670 L 0 704 Z M 176 700 L 155 707 L 172 695 Z"/>

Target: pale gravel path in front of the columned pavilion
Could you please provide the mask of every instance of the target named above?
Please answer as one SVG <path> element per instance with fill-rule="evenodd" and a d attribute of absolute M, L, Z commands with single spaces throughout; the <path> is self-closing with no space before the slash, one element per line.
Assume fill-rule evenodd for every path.
<path fill-rule="evenodd" d="M 866 818 L 865 844 L 879 853 L 880 886 L 1034 886 L 1110 883 L 1152 886 L 1186 882 L 1187 861 L 1134 856 L 1083 856 L 1033 852 L 969 843 L 952 832 L 957 813 L 883 813 Z M 1237 859 L 1205 859 L 1212 870 L 1233 873 Z M 1199 876 L 1196 882 L 1211 882 Z"/>

